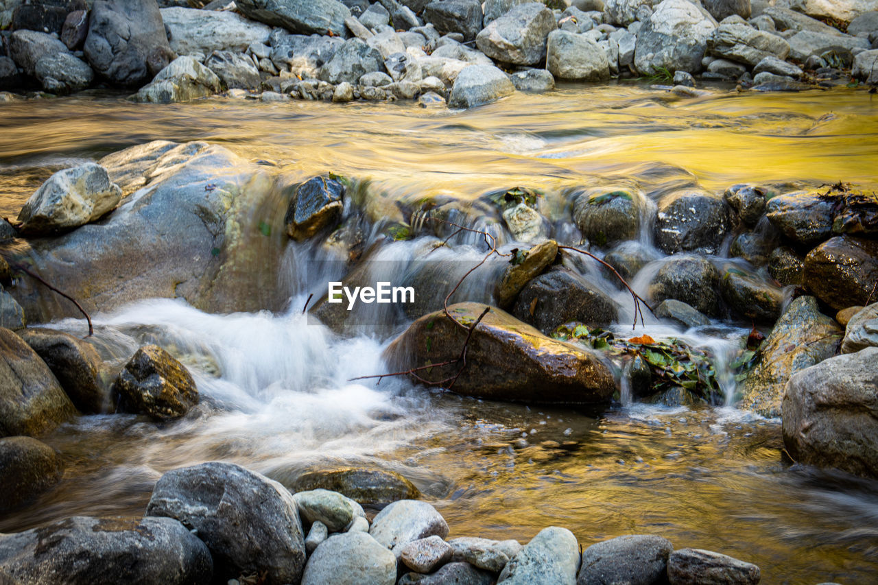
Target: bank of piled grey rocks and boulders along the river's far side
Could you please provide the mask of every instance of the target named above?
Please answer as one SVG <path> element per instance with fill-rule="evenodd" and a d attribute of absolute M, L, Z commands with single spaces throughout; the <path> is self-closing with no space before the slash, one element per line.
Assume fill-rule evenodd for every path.
<path fill-rule="evenodd" d="M 878 83 L 872 0 L 161 4 L 6 0 L 0 95 L 121 87 L 157 103 L 225 93 L 463 108 L 613 77 L 683 96 L 710 81 L 762 91 Z"/>

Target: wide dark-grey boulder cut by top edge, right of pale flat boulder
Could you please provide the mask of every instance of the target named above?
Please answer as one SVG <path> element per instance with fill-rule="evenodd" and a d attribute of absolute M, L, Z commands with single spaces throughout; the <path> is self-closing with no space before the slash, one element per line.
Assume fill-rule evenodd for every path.
<path fill-rule="evenodd" d="M 338 0 L 237 0 L 235 6 L 247 18 L 302 34 L 344 37 L 344 20 L 350 17 Z"/>

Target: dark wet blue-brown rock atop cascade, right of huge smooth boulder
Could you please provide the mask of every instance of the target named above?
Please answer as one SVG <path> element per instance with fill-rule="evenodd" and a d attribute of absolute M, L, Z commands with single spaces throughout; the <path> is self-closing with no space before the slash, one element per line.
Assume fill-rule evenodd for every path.
<path fill-rule="evenodd" d="M 284 216 L 286 233 L 297 242 L 315 235 L 342 216 L 344 184 L 334 178 L 313 177 L 300 184 Z"/>

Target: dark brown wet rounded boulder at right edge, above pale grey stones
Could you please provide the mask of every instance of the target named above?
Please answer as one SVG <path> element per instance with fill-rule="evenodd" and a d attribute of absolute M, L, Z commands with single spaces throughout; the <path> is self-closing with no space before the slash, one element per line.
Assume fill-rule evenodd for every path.
<path fill-rule="evenodd" d="M 835 309 L 865 305 L 878 281 L 878 242 L 842 235 L 805 256 L 805 285 Z"/>

